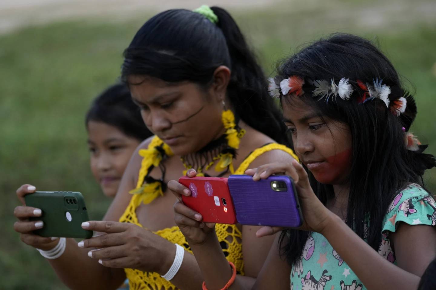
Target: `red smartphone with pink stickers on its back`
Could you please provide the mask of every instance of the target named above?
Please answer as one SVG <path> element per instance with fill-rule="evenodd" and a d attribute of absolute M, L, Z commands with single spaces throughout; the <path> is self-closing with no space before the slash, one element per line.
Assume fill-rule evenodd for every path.
<path fill-rule="evenodd" d="M 179 178 L 179 183 L 191 190 L 191 196 L 182 195 L 183 203 L 200 213 L 203 222 L 237 223 L 227 178 L 184 176 Z"/>

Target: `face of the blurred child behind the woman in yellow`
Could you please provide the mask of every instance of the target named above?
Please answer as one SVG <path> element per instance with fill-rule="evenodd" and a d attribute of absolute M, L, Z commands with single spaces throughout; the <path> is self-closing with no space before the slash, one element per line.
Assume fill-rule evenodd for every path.
<path fill-rule="evenodd" d="M 88 122 L 88 146 L 91 170 L 107 197 L 115 197 L 130 157 L 140 140 L 118 128 L 98 121 Z"/>

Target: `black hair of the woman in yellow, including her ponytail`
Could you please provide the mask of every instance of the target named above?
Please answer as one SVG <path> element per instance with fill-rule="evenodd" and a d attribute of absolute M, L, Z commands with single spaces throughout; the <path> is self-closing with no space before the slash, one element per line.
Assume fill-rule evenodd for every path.
<path fill-rule="evenodd" d="M 254 129 L 286 143 L 286 128 L 267 93 L 262 69 L 230 14 L 211 7 L 212 23 L 184 9 L 161 12 L 148 20 L 124 51 L 121 79 L 129 75 L 167 82 L 190 81 L 207 87 L 215 69 L 231 70 L 227 93 L 235 113 Z"/>

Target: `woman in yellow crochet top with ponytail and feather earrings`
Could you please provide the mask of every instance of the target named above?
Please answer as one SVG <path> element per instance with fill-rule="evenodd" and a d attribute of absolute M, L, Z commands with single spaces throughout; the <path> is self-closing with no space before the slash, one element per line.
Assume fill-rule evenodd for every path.
<path fill-rule="evenodd" d="M 82 224 L 100 234 L 58 246 L 32 233 L 41 224 L 27 219 L 41 211 L 24 204 L 15 210 L 15 230 L 44 257 L 63 250 L 48 261 L 73 289 L 116 289 L 126 277 L 131 289 L 200 289 L 203 275 L 174 222 L 176 198 L 167 182 L 190 168 L 200 176 L 227 177 L 292 160 L 293 151 L 282 145 L 286 127 L 259 64 L 224 9 L 159 13 L 136 33 L 124 57 L 121 78 L 155 136 L 133 154 L 104 221 Z M 23 200 L 34 190 L 25 184 L 17 195 Z M 273 237 L 257 239 L 257 227 L 215 229 L 222 256 L 250 287 Z"/>

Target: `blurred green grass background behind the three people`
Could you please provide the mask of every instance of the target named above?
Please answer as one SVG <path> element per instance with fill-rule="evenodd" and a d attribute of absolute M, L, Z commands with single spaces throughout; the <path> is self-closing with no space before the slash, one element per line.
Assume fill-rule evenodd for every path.
<path fill-rule="evenodd" d="M 65 289 L 13 230 L 15 190 L 80 191 L 91 219 L 110 200 L 89 170 L 85 112 L 119 77 L 122 53 L 157 12 L 201 4 L 227 9 L 267 75 L 276 60 L 334 32 L 377 41 L 416 90 L 412 131 L 436 154 L 434 0 L 0 0 L 0 289 Z M 436 169 L 426 173 L 436 193 Z"/>

